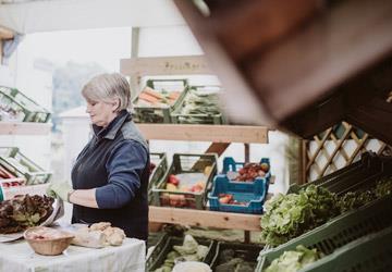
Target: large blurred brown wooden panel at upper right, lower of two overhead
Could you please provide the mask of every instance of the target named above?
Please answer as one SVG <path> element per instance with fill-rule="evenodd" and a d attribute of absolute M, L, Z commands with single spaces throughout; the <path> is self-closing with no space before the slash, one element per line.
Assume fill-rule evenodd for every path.
<path fill-rule="evenodd" d="M 313 103 L 392 52 L 392 1 L 343 1 L 297 35 L 245 64 L 278 120 Z"/>

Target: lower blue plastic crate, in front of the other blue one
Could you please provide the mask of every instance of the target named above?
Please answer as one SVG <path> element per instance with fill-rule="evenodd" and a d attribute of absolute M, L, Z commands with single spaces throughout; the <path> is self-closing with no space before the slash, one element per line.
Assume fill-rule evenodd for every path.
<path fill-rule="evenodd" d="M 246 183 L 230 181 L 226 175 L 216 175 L 212 190 L 208 194 L 210 210 L 260 214 L 267 195 L 267 183 L 268 180 L 265 177 L 257 177 L 255 182 Z M 234 200 L 247 205 L 220 203 L 219 194 L 231 194 Z"/>

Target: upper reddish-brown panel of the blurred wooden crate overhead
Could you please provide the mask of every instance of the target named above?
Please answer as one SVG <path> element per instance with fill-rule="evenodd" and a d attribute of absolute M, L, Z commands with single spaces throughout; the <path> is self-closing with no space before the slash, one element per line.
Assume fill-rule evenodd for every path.
<path fill-rule="evenodd" d="M 211 28 L 224 50 L 240 62 L 293 32 L 314 17 L 321 7 L 317 0 L 235 1 L 222 2 L 222 5 L 231 5 L 231 9 L 212 11 Z"/>

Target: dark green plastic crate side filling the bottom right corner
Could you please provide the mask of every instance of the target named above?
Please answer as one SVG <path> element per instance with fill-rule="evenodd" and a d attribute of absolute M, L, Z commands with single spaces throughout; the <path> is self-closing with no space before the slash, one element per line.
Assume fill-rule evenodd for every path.
<path fill-rule="evenodd" d="M 392 271 L 392 226 L 354 240 L 302 272 Z"/>

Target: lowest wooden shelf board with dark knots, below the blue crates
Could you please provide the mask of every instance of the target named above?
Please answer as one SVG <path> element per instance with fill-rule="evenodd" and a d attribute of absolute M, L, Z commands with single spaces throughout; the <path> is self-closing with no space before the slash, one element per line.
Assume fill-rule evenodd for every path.
<path fill-rule="evenodd" d="M 261 231 L 260 215 L 167 207 L 149 207 L 149 222 Z"/>

